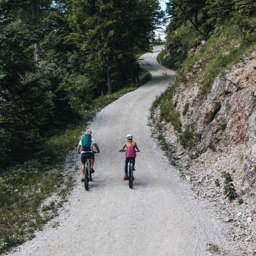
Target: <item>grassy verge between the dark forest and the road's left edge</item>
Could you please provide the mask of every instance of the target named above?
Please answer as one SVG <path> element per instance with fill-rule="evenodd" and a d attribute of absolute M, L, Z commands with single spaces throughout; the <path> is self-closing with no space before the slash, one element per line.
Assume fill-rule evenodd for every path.
<path fill-rule="evenodd" d="M 81 122 L 45 141 L 31 160 L 0 172 L 0 253 L 31 239 L 35 230 L 58 214 L 58 207 L 74 186 L 72 173 L 63 174 L 63 160 L 76 148 L 81 131 L 97 111 L 151 78 L 145 70 L 141 70 L 139 77 L 139 83 L 127 84 L 118 92 L 93 100 L 92 109 L 84 111 Z M 42 205 L 52 194 L 59 198 L 58 202 Z"/>

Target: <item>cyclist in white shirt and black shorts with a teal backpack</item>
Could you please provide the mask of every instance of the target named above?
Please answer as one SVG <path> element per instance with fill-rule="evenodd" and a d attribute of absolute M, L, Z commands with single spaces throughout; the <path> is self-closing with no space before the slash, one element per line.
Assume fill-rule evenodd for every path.
<path fill-rule="evenodd" d="M 90 138 L 90 141 L 92 142 L 92 145 L 90 145 L 90 147 L 88 148 L 83 148 L 82 147 L 82 138 L 83 137 L 88 137 Z M 79 141 L 79 144 L 77 146 L 77 154 L 80 153 L 80 150 L 81 150 L 81 162 L 82 162 L 82 168 L 81 168 L 81 172 L 82 172 L 82 179 L 81 181 L 84 182 L 84 166 L 85 166 L 85 163 L 86 163 L 86 159 L 92 159 L 91 161 L 91 172 L 94 173 L 95 171 L 93 170 L 93 166 L 95 164 L 95 156 L 94 156 L 94 153 L 93 153 L 93 147 L 95 147 L 97 153 L 100 152 L 100 149 L 99 149 L 99 146 L 97 145 L 97 143 L 95 142 L 95 140 L 92 138 L 92 131 L 91 130 L 86 130 L 86 132 L 84 132 L 82 134 L 82 138 L 81 140 Z"/>

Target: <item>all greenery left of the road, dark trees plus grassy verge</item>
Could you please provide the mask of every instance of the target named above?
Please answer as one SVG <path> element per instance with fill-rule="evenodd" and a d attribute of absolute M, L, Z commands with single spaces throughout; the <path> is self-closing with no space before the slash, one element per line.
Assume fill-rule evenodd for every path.
<path fill-rule="evenodd" d="M 150 79 L 137 58 L 156 41 L 164 13 L 158 0 L 0 5 L 3 253 L 32 237 L 65 202 L 74 180 L 63 174 L 63 161 L 86 123 Z M 58 202 L 42 206 L 52 194 Z"/>

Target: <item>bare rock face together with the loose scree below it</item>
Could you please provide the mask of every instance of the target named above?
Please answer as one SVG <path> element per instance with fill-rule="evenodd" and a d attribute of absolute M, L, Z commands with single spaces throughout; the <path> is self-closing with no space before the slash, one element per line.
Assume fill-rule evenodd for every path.
<path fill-rule="evenodd" d="M 237 255 L 256 255 L 255 61 L 252 51 L 231 65 L 214 79 L 207 96 L 203 81 L 189 83 L 195 72 L 202 72 L 195 63 L 185 81 L 175 84 L 172 99 L 170 94 L 160 97 L 152 108 L 152 136 L 158 135 L 171 163 L 227 225 Z M 181 129 L 164 121 L 163 102 L 164 108 L 179 113 Z M 186 130 L 191 134 L 183 138 L 191 136 L 194 142 L 184 148 L 180 137 Z"/>

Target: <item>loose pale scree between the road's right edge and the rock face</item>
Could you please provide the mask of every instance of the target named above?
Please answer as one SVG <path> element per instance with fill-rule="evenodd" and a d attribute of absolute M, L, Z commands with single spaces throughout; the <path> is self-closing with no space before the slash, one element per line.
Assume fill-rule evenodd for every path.
<path fill-rule="evenodd" d="M 159 109 L 155 110 L 154 119 L 159 119 Z M 172 125 L 161 122 L 161 134 L 172 148 L 173 156 L 180 178 L 191 184 L 198 198 L 204 200 L 209 209 L 217 214 L 221 225 L 227 230 L 227 238 L 233 242 L 236 255 L 256 255 L 256 198 L 255 189 L 250 187 L 243 173 L 241 152 L 244 145 L 223 148 L 218 152 L 208 149 L 198 157 L 193 157 L 193 150 L 185 150 L 179 143 Z M 195 158 L 195 159 L 194 159 Z M 224 195 L 225 179 L 221 173 L 230 173 L 238 198 L 229 202 Z M 216 186 L 216 180 L 219 186 Z M 239 204 L 239 200 L 241 204 Z"/>

